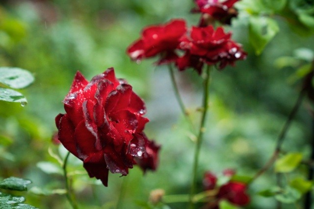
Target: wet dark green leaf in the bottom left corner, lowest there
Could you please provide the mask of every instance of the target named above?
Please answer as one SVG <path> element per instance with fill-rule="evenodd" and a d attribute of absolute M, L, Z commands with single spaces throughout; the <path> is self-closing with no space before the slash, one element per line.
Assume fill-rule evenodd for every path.
<path fill-rule="evenodd" d="M 24 204 L 24 201 L 24 197 L 15 197 L 0 192 L 0 209 L 35 209 L 33 206 Z"/>

